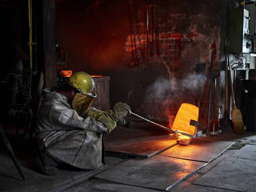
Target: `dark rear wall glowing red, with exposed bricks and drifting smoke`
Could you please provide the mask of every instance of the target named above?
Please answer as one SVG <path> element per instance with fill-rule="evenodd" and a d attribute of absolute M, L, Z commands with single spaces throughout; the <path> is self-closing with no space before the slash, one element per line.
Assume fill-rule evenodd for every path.
<path fill-rule="evenodd" d="M 111 104 L 127 102 L 138 114 L 169 122 L 183 102 L 196 104 L 195 68 L 206 63 L 201 105 L 201 121 L 206 122 L 211 50 L 217 50 L 219 60 L 221 14 L 226 17 L 220 9 L 223 2 L 148 2 L 148 45 L 146 3 L 57 2 L 56 36 L 68 54 L 67 67 L 110 76 Z M 223 86 L 220 78 L 218 85 Z M 220 98 L 217 109 L 222 105 Z"/>

